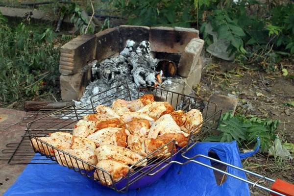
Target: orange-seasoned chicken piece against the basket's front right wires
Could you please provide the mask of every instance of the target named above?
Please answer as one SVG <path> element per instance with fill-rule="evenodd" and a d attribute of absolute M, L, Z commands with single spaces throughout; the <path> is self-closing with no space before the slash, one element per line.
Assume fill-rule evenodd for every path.
<path fill-rule="evenodd" d="M 137 154 L 140 154 L 142 156 L 147 156 L 148 154 L 151 154 L 158 148 L 164 146 L 165 143 L 158 139 L 153 138 L 146 138 L 139 134 L 131 134 L 127 137 L 127 147 L 131 149 L 132 151 L 136 152 Z M 171 153 L 168 152 L 168 147 L 163 147 L 158 152 L 161 152 L 160 154 L 158 152 L 152 154 L 153 156 L 170 156 Z M 147 158 L 151 158 L 147 157 Z"/>

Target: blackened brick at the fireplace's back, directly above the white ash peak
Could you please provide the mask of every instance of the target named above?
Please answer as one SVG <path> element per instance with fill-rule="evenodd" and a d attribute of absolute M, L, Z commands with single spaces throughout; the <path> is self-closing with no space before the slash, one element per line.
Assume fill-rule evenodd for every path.
<path fill-rule="evenodd" d="M 121 25 L 119 28 L 122 40 L 121 50 L 125 47 L 125 43 L 128 39 L 138 43 L 149 40 L 150 28 L 148 26 Z"/>

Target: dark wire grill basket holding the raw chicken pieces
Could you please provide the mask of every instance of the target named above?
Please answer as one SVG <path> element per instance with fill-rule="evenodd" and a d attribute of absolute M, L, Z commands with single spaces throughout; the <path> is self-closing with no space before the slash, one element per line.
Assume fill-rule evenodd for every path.
<path fill-rule="evenodd" d="M 147 155 L 147 165 L 146 159 L 139 160 L 137 163 L 129 167 L 125 177 L 119 180 L 114 180 L 111 173 L 38 139 L 38 137 L 45 137 L 48 136 L 49 133 L 57 131 L 72 133 L 75 123 L 82 119 L 83 116 L 95 113 L 95 108 L 98 104 L 111 106 L 112 102 L 116 99 L 131 100 L 128 85 L 127 83 L 123 83 L 92 96 L 90 98 L 91 104 L 89 105 L 79 108 L 68 106 L 40 119 L 27 123 L 30 141 L 32 142 L 34 140 L 38 144 L 38 147 L 33 147 L 34 151 L 39 152 L 41 155 L 46 156 L 51 160 L 55 160 L 56 157 L 63 157 L 65 161 L 59 162 L 61 165 L 66 166 L 75 172 L 79 172 L 88 178 L 92 178 L 100 184 L 103 184 L 117 192 L 125 193 L 130 189 L 141 188 L 152 183 L 161 177 L 169 169 L 169 167 L 171 167 L 172 161 L 175 160 L 176 156 L 180 152 L 187 151 L 189 146 L 199 140 L 200 137 L 203 137 L 207 131 L 218 127 L 220 123 L 221 110 L 217 111 L 217 106 L 213 102 L 175 93 L 158 87 L 145 85 L 143 88 L 143 86 L 140 86 L 138 98 L 145 94 L 154 95 L 155 101 L 167 101 L 171 103 L 174 110 L 181 109 L 184 112 L 187 112 L 191 109 L 198 109 L 202 112 L 203 122 L 196 125 L 191 130 L 188 144 L 185 147 L 178 147 L 177 150 L 174 151 L 175 141 L 172 140 Z M 56 157 L 53 156 L 54 151 Z M 146 166 L 142 167 L 143 165 Z"/>

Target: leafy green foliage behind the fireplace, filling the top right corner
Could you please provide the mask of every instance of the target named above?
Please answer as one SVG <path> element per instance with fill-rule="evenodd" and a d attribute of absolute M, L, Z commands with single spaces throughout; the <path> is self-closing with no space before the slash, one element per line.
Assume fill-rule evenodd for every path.
<path fill-rule="evenodd" d="M 294 53 L 294 4 L 258 0 L 102 0 L 113 3 L 128 18 L 129 25 L 182 26 L 200 28 L 206 46 L 214 43 L 206 24 L 217 33 L 217 41 L 229 43 L 227 51 L 236 60 L 257 61 L 266 71 L 279 71 L 283 56 Z"/>

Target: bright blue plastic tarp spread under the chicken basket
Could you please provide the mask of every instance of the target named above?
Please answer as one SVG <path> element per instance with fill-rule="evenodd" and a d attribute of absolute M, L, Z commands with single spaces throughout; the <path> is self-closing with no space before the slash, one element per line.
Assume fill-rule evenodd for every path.
<path fill-rule="evenodd" d="M 222 161 L 242 167 L 241 158 L 252 156 L 254 152 L 240 154 L 236 141 L 231 143 L 198 143 L 186 156 L 196 154 L 208 155 L 215 151 Z M 240 158 L 241 157 L 241 158 Z M 45 157 L 44 157 L 45 159 Z M 197 161 L 211 165 L 204 158 Z M 33 160 L 37 162 L 40 160 Z M 184 162 L 183 158 L 177 161 Z M 178 174 L 181 169 L 180 174 Z M 245 173 L 228 168 L 228 172 L 246 179 Z M 131 190 L 126 194 L 117 193 L 103 187 L 92 179 L 62 167 L 58 164 L 29 164 L 16 182 L 6 191 L 4 196 L 250 196 L 248 184 L 228 176 L 227 180 L 218 186 L 212 170 L 196 163 L 180 166 L 173 164 L 155 183 Z"/>

